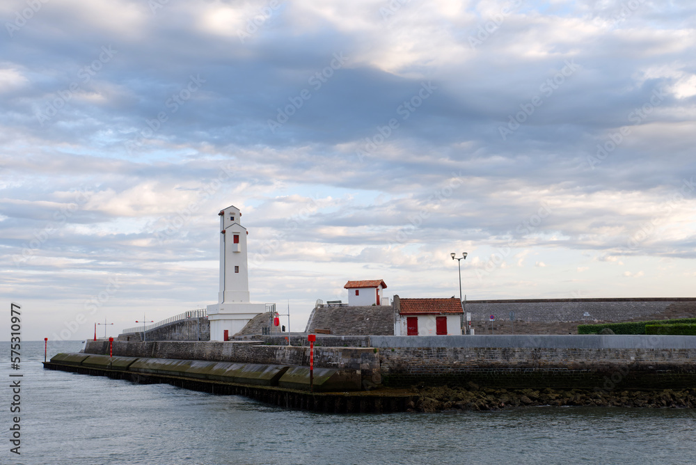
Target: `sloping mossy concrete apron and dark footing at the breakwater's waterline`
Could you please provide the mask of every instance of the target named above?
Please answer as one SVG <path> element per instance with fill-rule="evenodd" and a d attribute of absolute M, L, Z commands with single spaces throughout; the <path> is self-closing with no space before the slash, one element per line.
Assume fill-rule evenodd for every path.
<path fill-rule="evenodd" d="M 139 384 L 171 384 L 219 395 L 244 395 L 290 409 L 326 413 L 383 413 L 414 407 L 417 396 L 408 392 L 347 392 L 358 388 L 354 370 L 315 370 L 315 392 L 307 392 L 308 369 L 280 365 L 167 360 L 57 354 L 45 362 L 49 370 L 125 379 Z M 329 391 L 329 392 L 317 392 Z"/>

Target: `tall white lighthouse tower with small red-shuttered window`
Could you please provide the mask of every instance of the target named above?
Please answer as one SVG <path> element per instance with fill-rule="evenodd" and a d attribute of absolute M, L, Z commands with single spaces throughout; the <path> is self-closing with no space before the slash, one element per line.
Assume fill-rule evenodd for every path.
<path fill-rule="evenodd" d="M 209 305 L 210 340 L 226 340 L 239 332 L 253 317 L 265 310 L 265 304 L 249 301 L 249 276 L 246 259 L 246 228 L 242 212 L 230 205 L 220 216 L 220 292 L 218 303 Z"/>

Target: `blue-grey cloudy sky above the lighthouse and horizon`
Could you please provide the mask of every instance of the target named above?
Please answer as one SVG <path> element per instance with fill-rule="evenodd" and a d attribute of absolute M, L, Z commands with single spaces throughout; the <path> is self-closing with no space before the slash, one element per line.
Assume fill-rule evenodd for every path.
<path fill-rule="evenodd" d="M 6 0 L 0 17 L 0 292 L 24 338 L 215 303 L 228 205 L 252 300 L 289 305 L 291 329 L 349 279 L 458 295 L 450 252 L 468 299 L 694 297 L 693 2 Z"/>

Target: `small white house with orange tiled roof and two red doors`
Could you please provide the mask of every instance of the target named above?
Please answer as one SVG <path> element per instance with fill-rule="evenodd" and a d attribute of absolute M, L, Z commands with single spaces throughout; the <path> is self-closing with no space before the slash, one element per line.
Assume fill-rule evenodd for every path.
<path fill-rule="evenodd" d="M 459 299 L 400 299 L 394 296 L 395 336 L 451 336 L 461 334 Z"/>

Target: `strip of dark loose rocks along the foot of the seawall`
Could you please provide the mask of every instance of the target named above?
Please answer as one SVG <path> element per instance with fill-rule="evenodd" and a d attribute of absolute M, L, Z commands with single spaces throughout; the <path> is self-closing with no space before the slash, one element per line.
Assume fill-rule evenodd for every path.
<path fill-rule="evenodd" d="M 696 389 L 655 391 L 595 391 L 592 389 L 502 389 L 482 388 L 474 383 L 466 387 L 438 386 L 417 389 L 418 400 L 409 411 L 496 411 L 515 407 L 596 406 L 696 408 Z"/>

